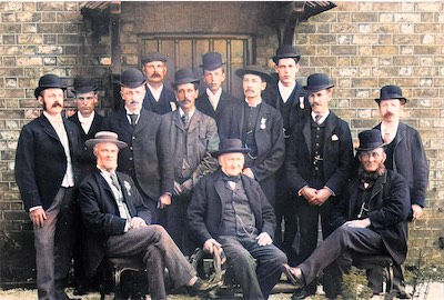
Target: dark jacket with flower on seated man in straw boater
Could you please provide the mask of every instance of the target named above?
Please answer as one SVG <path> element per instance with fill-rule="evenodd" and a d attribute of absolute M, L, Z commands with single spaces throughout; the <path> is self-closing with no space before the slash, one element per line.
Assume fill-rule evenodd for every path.
<path fill-rule="evenodd" d="M 150 210 L 143 204 L 131 177 L 121 172 L 117 172 L 117 177 L 131 217 L 140 217 L 150 224 Z M 91 277 L 104 258 L 108 239 L 111 236 L 123 234 L 127 220 L 120 218 L 111 187 L 98 169 L 80 184 L 79 201 L 85 229 L 85 268 Z"/>

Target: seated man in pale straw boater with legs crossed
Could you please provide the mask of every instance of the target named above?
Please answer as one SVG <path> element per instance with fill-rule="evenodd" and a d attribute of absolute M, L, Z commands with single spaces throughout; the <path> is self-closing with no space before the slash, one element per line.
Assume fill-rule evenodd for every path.
<path fill-rule="evenodd" d="M 195 276 L 171 237 L 161 226 L 148 224 L 150 211 L 131 177 L 117 172 L 119 149 L 127 147 L 110 131 L 85 142 L 93 148 L 97 169 L 80 184 L 80 208 L 85 226 L 85 268 L 92 276 L 103 258 L 138 258 L 149 272 L 151 299 L 167 299 L 164 270 L 173 288 L 210 290 Z"/>

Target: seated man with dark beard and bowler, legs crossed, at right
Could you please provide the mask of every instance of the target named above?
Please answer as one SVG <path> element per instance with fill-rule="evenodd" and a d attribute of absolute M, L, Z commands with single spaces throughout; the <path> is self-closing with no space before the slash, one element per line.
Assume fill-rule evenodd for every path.
<path fill-rule="evenodd" d="M 342 273 L 347 272 L 353 256 L 390 254 L 396 264 L 407 253 L 405 234 L 410 211 L 408 186 L 405 179 L 385 169 L 384 142 L 379 130 L 359 134 L 356 148 L 359 176 L 352 180 L 332 212 L 336 228 L 313 253 L 296 268 L 283 264 L 283 271 L 299 288 L 309 284 L 325 269 L 332 277 L 332 292 L 341 292 Z"/>

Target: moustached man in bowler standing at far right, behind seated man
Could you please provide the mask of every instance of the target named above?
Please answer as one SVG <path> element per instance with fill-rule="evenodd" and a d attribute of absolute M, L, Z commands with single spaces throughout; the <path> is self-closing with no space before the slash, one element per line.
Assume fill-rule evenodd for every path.
<path fill-rule="evenodd" d="M 407 102 L 397 86 L 381 88 L 380 98 L 375 99 L 382 117 L 381 123 L 375 129 L 380 130 L 386 146 L 387 159 L 384 164 L 389 170 L 402 174 L 408 183 L 411 212 L 410 221 L 415 221 L 423 216 L 425 197 L 428 186 L 428 163 L 425 157 L 420 133 L 412 127 L 401 121 L 401 112 Z M 407 227 L 408 229 L 408 227 Z M 374 292 L 382 291 L 382 282 L 379 277 L 382 270 L 369 273 Z M 394 287 L 397 289 L 397 298 L 410 299 L 405 292 L 404 276 L 401 268 L 394 268 Z"/>

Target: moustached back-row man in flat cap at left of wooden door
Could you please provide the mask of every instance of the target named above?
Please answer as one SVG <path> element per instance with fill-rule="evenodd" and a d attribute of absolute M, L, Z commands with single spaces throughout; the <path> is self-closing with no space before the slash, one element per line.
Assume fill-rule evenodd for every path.
<path fill-rule="evenodd" d="M 158 114 L 174 111 L 176 108 L 174 92 L 164 86 L 167 61 L 167 56 L 159 52 L 150 52 L 142 59 L 142 70 L 147 79 L 143 108 Z"/>

